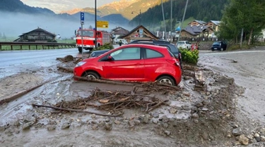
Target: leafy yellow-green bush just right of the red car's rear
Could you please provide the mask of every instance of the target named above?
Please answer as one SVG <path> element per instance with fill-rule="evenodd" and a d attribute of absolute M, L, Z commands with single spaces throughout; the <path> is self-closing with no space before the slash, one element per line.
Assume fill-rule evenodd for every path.
<path fill-rule="evenodd" d="M 192 51 L 180 48 L 179 51 L 182 54 L 182 61 L 184 63 L 194 64 L 194 65 L 198 63 L 199 50 L 194 49 L 194 51 Z"/>

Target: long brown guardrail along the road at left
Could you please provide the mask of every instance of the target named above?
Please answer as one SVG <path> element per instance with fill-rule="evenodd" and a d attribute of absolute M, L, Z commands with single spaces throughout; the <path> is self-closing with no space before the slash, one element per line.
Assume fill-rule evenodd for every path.
<path fill-rule="evenodd" d="M 11 50 L 13 50 L 13 46 L 20 46 L 20 50 L 22 50 L 22 46 L 28 46 L 28 49 L 30 49 L 30 46 L 36 46 L 35 49 L 38 49 L 37 46 L 42 46 L 42 49 L 45 49 L 45 46 L 48 47 L 48 49 L 52 48 L 55 49 L 55 46 L 59 48 L 66 48 L 68 47 L 76 47 L 76 44 L 66 44 L 66 43 L 57 43 L 57 42 L 16 42 L 16 41 L 9 41 L 9 42 L 0 42 L 0 51 L 2 51 L 2 46 L 11 46 Z"/>

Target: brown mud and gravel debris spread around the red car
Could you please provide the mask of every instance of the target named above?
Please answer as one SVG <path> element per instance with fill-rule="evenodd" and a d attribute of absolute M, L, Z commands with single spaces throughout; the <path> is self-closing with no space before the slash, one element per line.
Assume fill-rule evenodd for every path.
<path fill-rule="evenodd" d="M 232 63 L 220 68 L 218 65 L 230 61 L 222 58 L 204 54 L 200 56 L 199 66 L 184 65 L 183 79 L 177 91 L 135 91 L 135 94 L 148 94 L 167 102 L 149 113 L 141 107 L 123 109 L 120 117 L 33 107 L 32 103 L 50 106 L 63 101 L 76 103 L 76 99 L 93 96 L 95 89 L 124 93 L 134 89 L 132 86 L 74 81 L 71 73 L 58 71 L 55 66 L 44 72 L 37 71 L 35 74 L 41 78 L 26 79 L 30 81 L 28 87 L 39 80 L 48 81 L 47 84 L 0 106 L 1 146 L 241 146 L 246 142 L 249 146 L 265 146 L 265 129 L 259 119 L 250 117 L 245 113 L 247 110 L 238 107 L 240 98 L 247 98 L 249 94 L 246 87 L 241 87 L 246 85 L 240 85 L 235 76 L 234 79 L 225 71 L 247 73 L 232 68 Z M 235 60 L 241 62 L 239 58 Z M 71 67 L 73 64 L 59 65 Z M 227 68 L 233 70 L 225 70 Z M 202 81 L 195 79 L 197 72 L 202 73 Z M 23 83 L 24 74 L 3 80 L 16 77 Z M 26 75 L 30 78 L 32 73 Z M 24 85 L 11 84 L 9 87 L 22 89 Z M 1 91 L 3 97 L 15 92 L 4 91 L 4 87 Z M 83 110 L 112 114 L 109 109 L 87 107 Z"/>

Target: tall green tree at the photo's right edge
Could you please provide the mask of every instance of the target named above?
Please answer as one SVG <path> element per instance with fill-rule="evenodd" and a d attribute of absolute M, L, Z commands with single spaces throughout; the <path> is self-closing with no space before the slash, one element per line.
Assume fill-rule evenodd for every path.
<path fill-rule="evenodd" d="M 220 37 L 235 39 L 235 43 L 237 43 L 240 31 L 244 29 L 249 45 L 254 34 L 261 32 L 265 27 L 264 12 L 264 0 L 231 0 L 223 13 Z"/>

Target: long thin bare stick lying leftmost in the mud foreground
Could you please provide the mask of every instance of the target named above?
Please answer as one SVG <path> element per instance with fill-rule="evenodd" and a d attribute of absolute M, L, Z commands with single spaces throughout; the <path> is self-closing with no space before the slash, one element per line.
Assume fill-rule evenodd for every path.
<path fill-rule="evenodd" d="M 102 114 L 102 113 L 95 113 L 92 111 L 87 111 L 87 110 L 76 110 L 76 109 L 68 109 L 68 108 L 59 108 L 59 107 L 54 107 L 54 106 L 44 106 L 44 105 L 37 105 L 37 104 L 32 104 L 34 107 L 45 107 L 45 108 L 53 108 L 55 110 L 66 110 L 66 111 L 74 111 L 78 113 L 90 113 L 90 114 L 95 114 L 95 115 L 101 115 L 101 116 L 108 116 L 108 117 L 117 117 L 119 115 L 107 115 L 107 114 Z"/>

